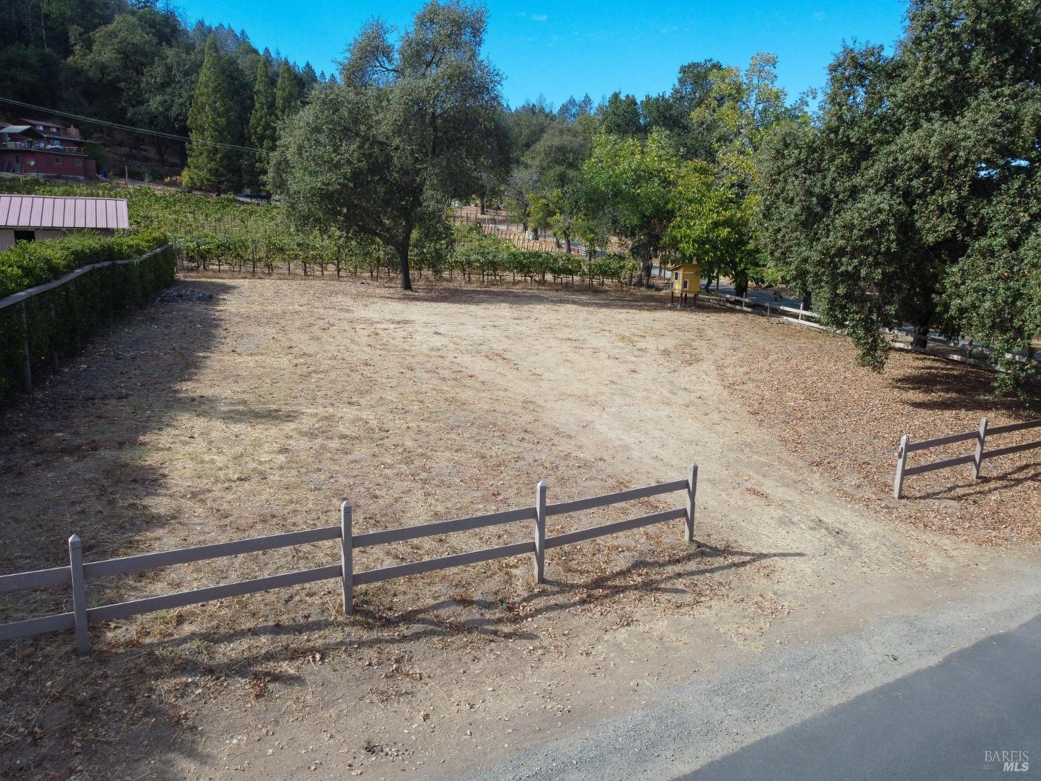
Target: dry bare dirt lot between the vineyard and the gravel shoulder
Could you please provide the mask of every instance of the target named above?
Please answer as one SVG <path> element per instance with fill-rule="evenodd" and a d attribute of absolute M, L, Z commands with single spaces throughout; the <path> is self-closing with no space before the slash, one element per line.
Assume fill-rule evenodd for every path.
<path fill-rule="evenodd" d="M 899 426 L 849 410 L 907 388 L 855 368 L 835 339 L 634 293 L 188 283 L 214 300 L 138 312 L 3 413 L 0 572 L 60 565 L 73 532 L 94 560 L 331 525 L 344 499 L 362 532 L 530 505 L 540 479 L 551 502 L 675 480 L 691 461 L 700 545 L 674 522 L 553 550 L 541 586 L 527 556 L 363 586 L 351 619 L 336 581 L 169 610 L 93 627 L 82 662 L 68 634 L 5 644 L 0 773 L 473 770 L 639 708 L 671 682 L 801 634 L 928 609 L 977 570 L 1036 556 L 906 522 L 905 508 L 922 503 L 885 499 L 886 443 Z M 916 360 L 933 371 L 896 357 L 890 372 L 911 376 Z M 817 360 L 831 372 L 788 379 Z M 763 379 L 784 403 L 757 395 L 769 396 Z M 844 404 L 803 414 L 796 384 L 811 401 Z M 980 394 L 909 431 L 965 429 L 988 407 Z M 900 425 L 929 395 L 900 397 Z M 995 424 L 1022 413 L 991 411 Z M 805 457 L 813 437 L 801 444 L 799 431 L 867 443 L 871 425 L 882 444 L 863 459 L 877 452 L 878 468 L 831 463 L 845 447 L 834 444 L 817 462 Z M 1039 460 L 1015 469 L 1036 475 Z M 993 467 L 976 493 L 949 488 L 947 501 L 987 502 L 997 515 L 1029 505 L 1036 485 L 994 483 L 1006 478 Z M 909 493 L 929 490 L 931 477 Z M 681 503 L 554 518 L 550 533 Z M 529 539 L 530 527 L 365 549 L 355 565 Z M 238 556 L 92 583 L 91 600 L 337 561 L 331 543 Z M 4 597 L 3 621 L 69 609 L 62 589 Z"/>

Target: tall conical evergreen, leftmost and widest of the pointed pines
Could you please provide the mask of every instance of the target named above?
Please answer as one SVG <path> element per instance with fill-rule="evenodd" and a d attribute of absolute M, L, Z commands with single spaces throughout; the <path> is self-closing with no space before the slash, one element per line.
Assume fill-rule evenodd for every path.
<path fill-rule="evenodd" d="M 229 64 L 214 35 L 206 41 L 202 70 L 188 109 L 188 165 L 184 183 L 206 190 L 233 190 L 239 180 L 238 153 L 214 144 L 237 144 L 237 111 Z"/>

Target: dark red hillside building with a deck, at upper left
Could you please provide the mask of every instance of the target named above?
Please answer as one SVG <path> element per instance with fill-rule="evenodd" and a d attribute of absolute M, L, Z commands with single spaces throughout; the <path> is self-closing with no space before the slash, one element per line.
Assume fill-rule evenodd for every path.
<path fill-rule="evenodd" d="M 83 154 L 79 130 L 27 118 L 0 127 L 0 171 L 73 179 L 98 176 L 97 165 Z"/>

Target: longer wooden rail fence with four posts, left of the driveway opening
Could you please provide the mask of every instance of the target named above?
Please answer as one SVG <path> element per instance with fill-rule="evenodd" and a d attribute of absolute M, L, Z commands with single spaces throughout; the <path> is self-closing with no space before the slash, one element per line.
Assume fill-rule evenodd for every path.
<path fill-rule="evenodd" d="M 548 517 L 579 512 L 580 510 L 591 509 L 593 507 L 605 507 L 679 490 L 686 493 L 686 504 L 684 507 L 652 512 L 649 515 L 640 515 L 627 521 L 579 529 L 578 531 L 565 532 L 552 537 L 545 535 L 545 519 Z M 69 563 L 67 565 L 0 576 L 0 593 L 28 590 L 43 586 L 70 585 L 72 588 L 73 609 L 69 612 L 0 624 L 0 640 L 10 640 L 46 632 L 75 629 L 76 649 L 80 658 L 84 658 L 90 651 L 87 626 L 99 621 L 124 619 L 155 610 L 183 607 L 184 605 L 194 605 L 211 600 L 239 597 L 246 594 L 302 585 L 304 583 L 331 580 L 333 578 L 339 578 L 342 583 L 344 611 L 347 614 L 351 614 L 354 612 L 354 586 L 356 585 L 378 583 L 383 580 L 420 575 L 435 570 L 445 570 L 450 566 L 461 566 L 462 564 L 490 561 L 492 559 L 519 556 L 527 553 L 534 555 L 535 582 L 541 583 L 545 572 L 545 551 L 552 548 L 681 518 L 684 519 L 685 523 L 686 539 L 688 543 L 692 543 L 694 539 L 694 500 L 696 492 L 697 464 L 690 465 L 687 477 L 683 480 L 675 480 L 668 483 L 649 485 L 642 488 L 631 488 L 616 494 L 607 494 L 557 504 L 547 504 L 547 485 L 545 481 L 542 481 L 535 488 L 535 504 L 530 507 L 503 510 L 501 512 L 475 515 L 455 521 L 441 521 L 433 524 L 406 526 L 399 529 L 363 532 L 361 534 L 354 533 L 351 505 L 349 502 L 344 502 L 340 506 L 340 523 L 338 526 L 326 526 L 321 529 L 272 534 L 262 537 L 252 537 L 250 539 L 238 539 L 231 543 L 217 543 L 158 553 L 144 553 L 102 561 L 83 561 L 82 541 L 79 535 L 73 534 L 69 538 Z M 499 526 L 517 521 L 534 521 L 534 535 L 531 541 L 513 543 L 511 545 L 456 553 L 404 564 L 392 564 L 377 570 L 354 571 L 354 550 L 357 548 L 367 548 L 386 543 L 399 543 L 406 539 L 418 539 L 438 534 Z M 281 575 L 271 575 L 235 583 L 224 583 L 222 585 L 196 588 L 160 597 L 147 597 L 130 602 L 87 607 L 87 582 L 97 578 L 143 572 L 145 570 L 154 570 L 173 564 L 184 564 L 192 561 L 223 558 L 225 556 L 237 556 L 243 553 L 271 551 L 278 548 L 307 545 L 328 539 L 340 540 L 340 561 L 338 564 L 326 564 L 311 570 L 299 570 Z"/>

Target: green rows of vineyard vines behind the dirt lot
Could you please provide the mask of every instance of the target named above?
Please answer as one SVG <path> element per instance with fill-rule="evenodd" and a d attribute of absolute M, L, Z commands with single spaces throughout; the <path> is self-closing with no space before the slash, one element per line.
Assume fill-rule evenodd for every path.
<path fill-rule="evenodd" d="M 130 224 L 171 236 L 182 271 L 231 271 L 256 275 L 397 277 L 397 255 L 375 241 L 336 231 L 295 229 L 272 203 L 244 203 L 233 196 L 212 197 L 151 187 L 103 184 L 54 185 L 36 180 L 3 180 L 5 190 L 47 195 L 110 195 L 127 199 Z M 446 226 L 432 236 L 418 235 L 409 264 L 418 279 L 505 281 L 601 285 L 631 284 L 639 273 L 635 260 L 608 254 L 594 258 L 517 248 L 489 235 L 476 223 Z"/>

